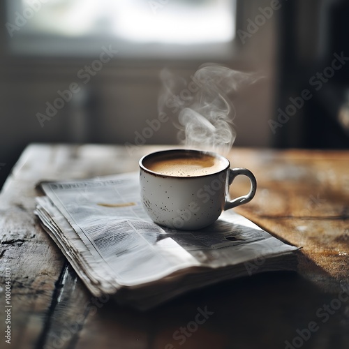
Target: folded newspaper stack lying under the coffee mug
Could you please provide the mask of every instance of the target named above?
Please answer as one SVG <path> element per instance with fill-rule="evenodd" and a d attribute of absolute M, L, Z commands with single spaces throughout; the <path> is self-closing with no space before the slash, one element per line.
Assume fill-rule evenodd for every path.
<path fill-rule="evenodd" d="M 197 231 L 156 225 L 138 173 L 40 187 L 35 214 L 95 297 L 146 310 L 219 281 L 297 268 L 297 247 L 232 210 Z"/>

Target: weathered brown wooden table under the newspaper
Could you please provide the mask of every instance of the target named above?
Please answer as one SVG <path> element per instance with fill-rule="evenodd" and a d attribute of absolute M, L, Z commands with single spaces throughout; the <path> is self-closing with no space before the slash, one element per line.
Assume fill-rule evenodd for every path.
<path fill-rule="evenodd" d="M 237 211 L 303 246 L 297 273 L 228 281 L 145 313 L 91 297 L 33 214 L 35 184 L 138 170 L 138 158 L 160 148 L 32 144 L 24 151 L 0 197 L 0 348 L 349 348 L 349 151 L 228 156 L 258 179 L 255 198 Z M 246 185 L 233 186 L 233 195 Z M 6 270 L 11 345 L 3 336 Z M 195 327 L 200 311 L 208 315 Z"/>

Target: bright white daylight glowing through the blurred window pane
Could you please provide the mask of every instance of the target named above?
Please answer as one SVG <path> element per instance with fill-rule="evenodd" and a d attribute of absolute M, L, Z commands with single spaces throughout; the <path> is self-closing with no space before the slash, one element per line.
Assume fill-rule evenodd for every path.
<path fill-rule="evenodd" d="M 31 3 L 22 0 L 22 7 Z M 42 3 L 27 30 L 68 37 L 114 36 L 133 43 L 225 43 L 235 36 L 235 1 L 50 0 Z"/>

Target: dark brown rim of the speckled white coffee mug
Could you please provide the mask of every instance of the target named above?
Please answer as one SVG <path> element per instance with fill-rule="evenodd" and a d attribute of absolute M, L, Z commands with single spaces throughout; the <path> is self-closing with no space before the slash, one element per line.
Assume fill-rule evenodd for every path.
<path fill-rule="evenodd" d="M 212 156 L 214 158 L 220 158 L 222 161 L 224 161 L 226 163 L 225 168 L 222 168 L 221 170 L 218 170 L 217 172 L 214 173 L 209 173 L 209 174 L 198 174 L 195 176 L 190 176 L 190 177 L 183 177 L 183 176 L 174 176 L 171 174 L 161 174 L 152 170 L 149 170 L 149 168 L 146 168 L 145 165 L 143 164 L 143 161 L 151 156 L 157 156 L 159 154 L 165 154 L 165 153 L 172 153 L 172 152 L 181 152 L 181 153 L 195 153 L 195 154 L 205 154 L 205 155 L 209 155 Z M 204 151 L 204 150 L 198 150 L 198 149 L 185 149 L 185 148 L 178 148 L 178 149 L 164 149 L 164 150 L 158 150 L 158 151 L 153 151 L 149 154 L 146 154 L 144 156 L 142 156 L 142 158 L 140 158 L 139 161 L 139 166 L 140 169 L 143 170 L 144 172 L 147 172 L 149 174 L 152 174 L 156 177 L 162 177 L 162 178 L 177 178 L 177 179 L 194 179 L 194 178 L 200 178 L 200 177 L 209 177 L 209 176 L 215 176 L 218 173 L 221 173 L 225 170 L 228 170 L 228 168 L 230 168 L 230 161 L 228 160 L 228 158 L 225 158 L 225 156 L 221 155 L 221 154 L 217 154 L 214 151 Z"/>

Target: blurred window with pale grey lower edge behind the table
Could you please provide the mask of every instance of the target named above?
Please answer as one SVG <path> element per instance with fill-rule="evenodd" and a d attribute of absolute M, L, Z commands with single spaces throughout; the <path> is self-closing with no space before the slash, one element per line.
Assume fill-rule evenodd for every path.
<path fill-rule="evenodd" d="M 231 54 L 235 0 L 8 0 L 13 52 L 80 55 L 112 44 L 121 57 Z"/>

